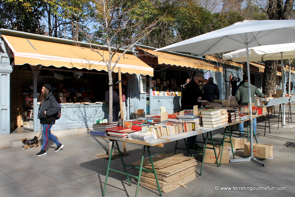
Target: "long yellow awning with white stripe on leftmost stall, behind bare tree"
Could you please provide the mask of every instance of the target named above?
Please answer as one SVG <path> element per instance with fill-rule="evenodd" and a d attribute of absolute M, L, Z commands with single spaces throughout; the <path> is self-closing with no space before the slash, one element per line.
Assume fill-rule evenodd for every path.
<path fill-rule="evenodd" d="M 14 37 L 2 35 L 8 46 L 14 53 L 15 65 L 43 65 L 55 66 L 57 68 L 86 68 L 88 70 L 105 70 L 107 66 L 103 62 L 103 58 L 97 52 L 92 51 L 90 48 L 78 47 L 76 45 L 66 45 L 54 42 L 46 42 L 40 40 L 32 40 L 21 37 Z M 106 60 L 109 59 L 109 52 L 104 50 L 97 50 L 103 54 Z M 113 61 L 122 53 L 114 56 Z M 112 62 L 112 66 L 114 62 Z M 118 72 L 118 67 L 121 67 L 122 73 L 135 73 L 142 75 L 153 76 L 153 68 L 141 61 L 134 55 L 124 54 L 122 56 L 114 72 Z"/>

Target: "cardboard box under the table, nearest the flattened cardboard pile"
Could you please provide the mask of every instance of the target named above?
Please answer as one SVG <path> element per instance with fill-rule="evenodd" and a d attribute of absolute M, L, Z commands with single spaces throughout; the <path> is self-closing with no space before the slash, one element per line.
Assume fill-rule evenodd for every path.
<path fill-rule="evenodd" d="M 207 145 L 207 147 L 212 147 L 212 145 Z M 220 163 L 220 155 L 221 155 L 221 149 L 222 146 L 220 145 L 215 145 L 215 150 L 216 150 L 216 155 L 218 158 L 218 163 Z M 224 146 L 223 147 L 223 152 L 222 152 L 222 164 L 228 164 L 230 162 L 230 153 L 229 153 L 229 149 L 228 146 Z M 204 163 L 216 163 L 216 158 L 215 158 L 215 154 L 214 154 L 214 150 L 213 149 L 206 149 L 205 152 L 205 158 L 204 158 Z"/>

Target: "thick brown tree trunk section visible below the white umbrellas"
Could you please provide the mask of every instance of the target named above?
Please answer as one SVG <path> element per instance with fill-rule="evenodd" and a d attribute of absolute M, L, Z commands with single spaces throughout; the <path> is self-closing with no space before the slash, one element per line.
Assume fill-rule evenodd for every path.
<path fill-rule="evenodd" d="M 278 60 L 265 61 L 265 68 L 262 75 L 262 93 L 273 94 L 276 86 L 276 71 L 278 67 Z"/>

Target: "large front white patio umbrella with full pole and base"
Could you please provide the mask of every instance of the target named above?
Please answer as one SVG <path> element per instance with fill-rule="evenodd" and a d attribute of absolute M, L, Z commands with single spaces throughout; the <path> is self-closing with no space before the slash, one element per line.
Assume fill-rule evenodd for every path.
<path fill-rule="evenodd" d="M 155 51 L 190 52 L 208 55 L 219 52 L 238 50 L 260 45 L 283 44 L 295 42 L 295 20 L 252 20 L 242 21 L 228 27 L 199 35 L 188 40 L 157 49 Z M 249 56 L 247 55 L 248 81 L 250 84 Z M 251 89 L 249 86 L 249 103 L 251 109 Z M 260 166 L 253 157 L 253 120 L 250 113 L 250 160 Z M 249 160 L 249 159 L 245 159 Z M 242 161 L 242 160 L 241 160 Z"/>

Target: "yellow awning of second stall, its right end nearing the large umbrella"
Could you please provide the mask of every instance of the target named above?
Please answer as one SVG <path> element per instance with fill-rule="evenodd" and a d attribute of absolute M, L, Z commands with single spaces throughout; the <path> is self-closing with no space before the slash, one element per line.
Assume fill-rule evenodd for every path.
<path fill-rule="evenodd" d="M 212 70 L 217 72 L 222 72 L 222 67 L 214 66 L 202 60 L 197 60 L 194 58 L 183 57 L 180 55 L 173 55 L 169 53 L 164 53 L 160 51 L 152 51 L 152 50 L 144 50 L 151 55 L 158 57 L 159 64 L 167 64 L 167 65 L 176 65 L 186 68 L 195 68 L 195 69 L 203 69 L 203 70 Z"/>

